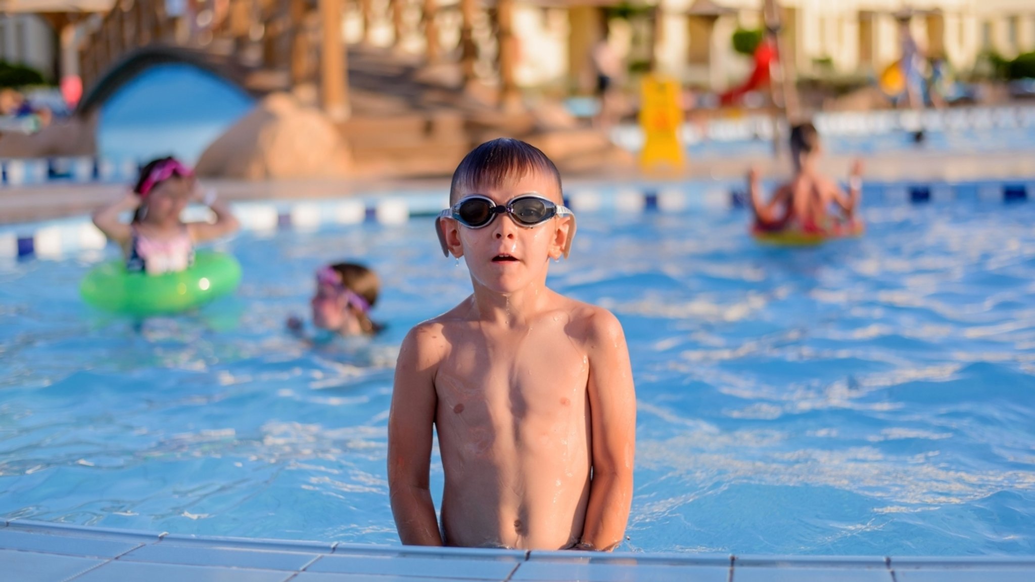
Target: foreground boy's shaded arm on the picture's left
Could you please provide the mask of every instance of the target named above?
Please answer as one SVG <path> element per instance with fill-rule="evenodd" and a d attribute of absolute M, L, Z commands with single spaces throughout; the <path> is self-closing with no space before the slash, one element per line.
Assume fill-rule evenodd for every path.
<path fill-rule="evenodd" d="M 441 337 L 426 324 L 414 327 L 403 340 L 395 363 L 388 414 L 388 492 L 398 539 L 409 546 L 442 545 L 427 485 Z"/>

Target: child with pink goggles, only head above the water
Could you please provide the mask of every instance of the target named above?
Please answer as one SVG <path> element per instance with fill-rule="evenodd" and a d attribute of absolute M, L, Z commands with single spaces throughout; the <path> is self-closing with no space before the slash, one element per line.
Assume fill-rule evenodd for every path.
<path fill-rule="evenodd" d="M 371 319 L 378 302 L 378 274 L 356 263 L 335 263 L 317 270 L 317 290 L 309 299 L 313 325 L 337 336 L 373 336 L 381 325 Z M 288 318 L 288 329 L 301 336 L 302 320 Z"/>

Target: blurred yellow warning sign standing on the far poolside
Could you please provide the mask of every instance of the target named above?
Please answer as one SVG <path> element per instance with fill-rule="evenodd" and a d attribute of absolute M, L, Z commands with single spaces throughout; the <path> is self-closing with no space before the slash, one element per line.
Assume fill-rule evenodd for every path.
<path fill-rule="evenodd" d="M 679 84 L 658 76 L 644 78 L 640 107 L 640 127 L 644 147 L 640 150 L 640 166 L 646 171 L 683 167 L 683 148 L 679 143 L 679 126 L 683 110 L 679 107 Z"/>

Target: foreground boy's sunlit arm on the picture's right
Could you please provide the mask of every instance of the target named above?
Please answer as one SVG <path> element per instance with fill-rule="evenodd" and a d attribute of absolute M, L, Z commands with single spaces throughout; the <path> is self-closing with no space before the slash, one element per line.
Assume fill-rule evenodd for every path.
<path fill-rule="evenodd" d="M 622 542 L 629 519 L 637 440 L 629 350 L 622 325 L 611 312 L 593 314 L 588 351 L 593 477 L 576 549 L 610 551 Z"/>

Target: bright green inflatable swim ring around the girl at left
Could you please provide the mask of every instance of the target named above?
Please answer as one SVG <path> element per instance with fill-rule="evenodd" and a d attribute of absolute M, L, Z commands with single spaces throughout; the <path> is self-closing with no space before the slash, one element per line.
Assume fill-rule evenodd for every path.
<path fill-rule="evenodd" d="M 97 265 L 83 278 L 79 290 L 95 308 L 129 315 L 178 313 L 226 295 L 241 282 L 237 259 L 199 252 L 186 270 L 165 274 L 127 272 L 125 261 Z"/>

